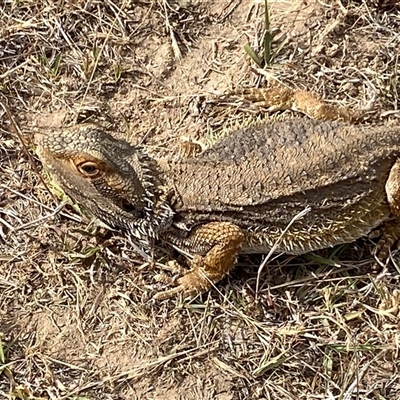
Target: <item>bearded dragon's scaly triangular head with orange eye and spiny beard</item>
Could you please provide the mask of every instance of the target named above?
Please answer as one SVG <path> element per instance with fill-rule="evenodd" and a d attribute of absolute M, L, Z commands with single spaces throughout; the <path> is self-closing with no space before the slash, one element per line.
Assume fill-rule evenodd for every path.
<path fill-rule="evenodd" d="M 154 181 L 148 158 L 98 126 L 36 136 L 37 153 L 65 192 L 113 228 L 152 237 Z"/>

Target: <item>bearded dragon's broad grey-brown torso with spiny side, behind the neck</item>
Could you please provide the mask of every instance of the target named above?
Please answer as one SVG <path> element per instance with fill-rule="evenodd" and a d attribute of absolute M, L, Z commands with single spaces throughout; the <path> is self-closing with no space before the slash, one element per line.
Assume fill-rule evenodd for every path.
<path fill-rule="evenodd" d="M 270 247 L 307 206 L 287 234 L 291 252 L 350 242 L 390 215 L 385 182 L 399 153 L 398 128 L 307 119 L 251 127 L 170 166 L 173 207 L 188 229 L 230 221 L 260 232 L 249 237 L 252 252 Z"/>

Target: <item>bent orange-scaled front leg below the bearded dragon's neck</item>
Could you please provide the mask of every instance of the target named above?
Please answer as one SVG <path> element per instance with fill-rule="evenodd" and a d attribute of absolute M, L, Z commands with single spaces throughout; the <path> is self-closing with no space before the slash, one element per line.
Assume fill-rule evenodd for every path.
<path fill-rule="evenodd" d="M 191 262 L 191 269 L 177 280 L 177 286 L 157 293 L 154 296 L 156 300 L 179 293 L 191 297 L 209 290 L 234 266 L 244 234 L 230 222 L 210 222 L 194 228 L 188 237 L 170 235 L 168 239 L 196 255 Z"/>

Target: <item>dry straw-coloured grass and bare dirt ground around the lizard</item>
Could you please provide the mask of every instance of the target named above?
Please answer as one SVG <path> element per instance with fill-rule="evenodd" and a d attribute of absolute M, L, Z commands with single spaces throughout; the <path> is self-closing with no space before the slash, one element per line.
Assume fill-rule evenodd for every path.
<path fill-rule="evenodd" d="M 94 235 L 40 179 L 37 131 L 94 120 L 175 157 L 184 137 L 268 118 L 216 96 L 271 82 L 399 123 L 397 1 L 269 10 L 259 67 L 243 46 L 261 54 L 262 1 L 0 3 L 1 398 L 400 398 L 398 268 L 371 268 L 371 240 L 270 262 L 257 298 L 261 256 L 192 301 L 154 302 L 176 255 L 152 265 L 124 235 Z"/>

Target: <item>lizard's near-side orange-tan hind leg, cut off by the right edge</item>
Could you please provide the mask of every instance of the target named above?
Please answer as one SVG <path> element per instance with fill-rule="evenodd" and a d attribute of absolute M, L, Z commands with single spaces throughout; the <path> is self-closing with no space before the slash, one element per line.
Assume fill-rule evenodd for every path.
<path fill-rule="evenodd" d="M 400 239 L 400 159 L 393 164 L 385 185 L 390 212 L 394 219 L 386 221 L 382 225 L 382 237 L 378 242 L 376 255 L 385 263 L 390 256 L 393 245 Z"/>

